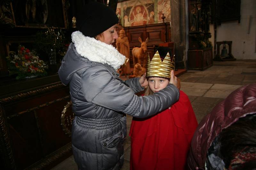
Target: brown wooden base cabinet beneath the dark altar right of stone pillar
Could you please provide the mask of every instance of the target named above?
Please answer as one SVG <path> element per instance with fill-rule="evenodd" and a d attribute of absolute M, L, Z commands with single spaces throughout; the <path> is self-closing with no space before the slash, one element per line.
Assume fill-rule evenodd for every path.
<path fill-rule="evenodd" d="M 188 69 L 204 70 L 212 66 L 212 47 L 188 50 Z"/>

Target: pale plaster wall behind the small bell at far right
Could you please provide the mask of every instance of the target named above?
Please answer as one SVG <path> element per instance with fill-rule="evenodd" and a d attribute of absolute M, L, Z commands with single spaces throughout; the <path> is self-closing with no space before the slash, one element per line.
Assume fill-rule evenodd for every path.
<path fill-rule="evenodd" d="M 241 23 L 238 23 L 237 21 L 230 21 L 223 22 L 221 25 L 217 26 L 216 40 L 232 41 L 232 54 L 236 59 L 256 59 L 255 9 L 255 0 L 242 0 Z M 221 49 L 222 46 L 220 46 L 220 50 Z"/>

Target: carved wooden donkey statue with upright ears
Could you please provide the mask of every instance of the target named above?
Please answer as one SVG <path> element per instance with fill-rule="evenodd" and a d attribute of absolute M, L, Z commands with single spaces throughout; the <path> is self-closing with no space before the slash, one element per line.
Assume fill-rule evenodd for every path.
<path fill-rule="evenodd" d="M 148 38 L 146 39 L 146 41 L 142 41 L 141 38 L 139 37 L 139 41 L 141 43 L 141 46 L 134 47 L 132 49 L 133 67 L 135 66 L 136 63 L 140 63 L 142 67 L 146 68 Z"/>

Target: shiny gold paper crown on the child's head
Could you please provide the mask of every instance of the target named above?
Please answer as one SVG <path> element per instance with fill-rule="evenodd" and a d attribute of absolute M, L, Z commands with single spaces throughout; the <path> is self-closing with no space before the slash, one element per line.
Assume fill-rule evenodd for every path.
<path fill-rule="evenodd" d="M 174 56 L 171 60 L 169 52 L 166 54 L 164 60 L 162 61 L 158 51 L 156 51 L 154 57 L 150 61 L 149 54 L 147 60 L 147 71 L 146 76 L 152 77 L 171 77 L 171 71 L 175 68 Z"/>

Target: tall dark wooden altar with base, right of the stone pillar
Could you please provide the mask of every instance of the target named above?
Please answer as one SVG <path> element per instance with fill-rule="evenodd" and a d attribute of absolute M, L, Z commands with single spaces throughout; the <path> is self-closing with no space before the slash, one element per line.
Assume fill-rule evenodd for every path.
<path fill-rule="evenodd" d="M 210 4 L 209 0 L 189 1 L 188 69 L 204 70 L 212 66 Z"/>

